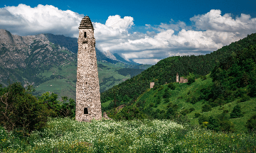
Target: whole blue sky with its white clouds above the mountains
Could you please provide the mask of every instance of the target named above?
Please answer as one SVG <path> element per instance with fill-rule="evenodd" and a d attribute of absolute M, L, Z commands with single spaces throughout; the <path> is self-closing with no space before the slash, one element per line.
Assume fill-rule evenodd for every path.
<path fill-rule="evenodd" d="M 256 1 L 1 1 L 0 28 L 15 35 L 78 36 L 83 16 L 96 47 L 156 64 L 177 55 L 205 55 L 256 33 Z"/>

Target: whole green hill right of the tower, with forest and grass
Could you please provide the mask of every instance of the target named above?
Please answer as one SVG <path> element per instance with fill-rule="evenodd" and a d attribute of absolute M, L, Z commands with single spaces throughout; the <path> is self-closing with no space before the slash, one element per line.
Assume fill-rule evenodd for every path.
<path fill-rule="evenodd" d="M 116 119 L 143 118 L 136 114 L 144 113 L 146 118 L 245 132 L 256 110 L 255 51 L 254 33 L 210 55 L 166 58 L 103 92 L 102 110 Z M 176 83 L 176 72 L 188 83 Z M 149 89 L 151 81 L 154 89 Z M 114 109 L 120 105 L 126 107 Z"/>

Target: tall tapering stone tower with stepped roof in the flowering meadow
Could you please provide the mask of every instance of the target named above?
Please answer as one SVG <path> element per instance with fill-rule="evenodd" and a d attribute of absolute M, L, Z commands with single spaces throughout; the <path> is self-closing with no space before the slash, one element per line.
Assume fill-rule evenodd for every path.
<path fill-rule="evenodd" d="M 78 69 L 75 120 L 102 118 L 94 28 L 89 16 L 82 18 L 78 36 Z"/>

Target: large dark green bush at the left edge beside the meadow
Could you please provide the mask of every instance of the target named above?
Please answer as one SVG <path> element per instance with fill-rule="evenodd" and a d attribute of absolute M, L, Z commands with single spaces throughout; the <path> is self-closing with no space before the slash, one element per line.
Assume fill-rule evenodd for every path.
<path fill-rule="evenodd" d="M 19 82 L 0 88 L 1 125 L 9 132 L 20 130 L 25 136 L 46 125 L 49 111 L 31 94 L 32 91 L 32 86 L 25 89 Z"/>

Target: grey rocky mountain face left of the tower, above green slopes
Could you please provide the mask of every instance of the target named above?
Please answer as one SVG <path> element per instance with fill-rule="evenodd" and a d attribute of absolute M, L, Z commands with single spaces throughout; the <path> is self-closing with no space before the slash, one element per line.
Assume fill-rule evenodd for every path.
<path fill-rule="evenodd" d="M 46 35 L 19 36 L 0 29 L 1 84 L 6 85 L 8 79 L 35 84 L 39 71 L 76 60 L 76 54 L 53 44 Z"/>

